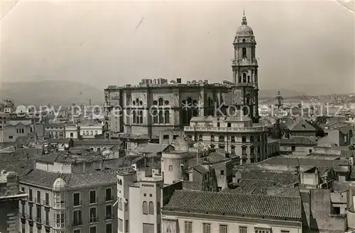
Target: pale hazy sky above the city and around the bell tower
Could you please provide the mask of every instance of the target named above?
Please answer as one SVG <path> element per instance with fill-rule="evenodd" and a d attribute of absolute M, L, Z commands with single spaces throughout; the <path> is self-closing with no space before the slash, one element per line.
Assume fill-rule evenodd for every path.
<path fill-rule="evenodd" d="M 4 14 L 15 2 L 3 1 Z M 243 8 L 260 89 L 355 92 L 355 15 L 335 0 L 21 0 L 1 20 L 1 79 L 100 89 L 149 77 L 231 81 Z"/>

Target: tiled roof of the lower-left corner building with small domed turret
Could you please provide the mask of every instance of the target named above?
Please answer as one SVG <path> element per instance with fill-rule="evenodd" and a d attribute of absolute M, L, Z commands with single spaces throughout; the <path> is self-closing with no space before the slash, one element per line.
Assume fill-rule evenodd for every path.
<path fill-rule="evenodd" d="M 69 189 L 108 186 L 116 183 L 116 171 L 92 171 L 82 174 L 61 174 L 40 169 L 29 170 L 26 174 L 23 174 L 20 182 L 52 188 L 54 181 L 58 177 L 65 181 L 67 188 Z"/>

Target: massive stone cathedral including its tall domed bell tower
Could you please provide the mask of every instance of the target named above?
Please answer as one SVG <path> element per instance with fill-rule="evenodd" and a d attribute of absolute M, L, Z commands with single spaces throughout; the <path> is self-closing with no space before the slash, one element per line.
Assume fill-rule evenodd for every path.
<path fill-rule="evenodd" d="M 258 123 L 256 40 L 245 13 L 233 47 L 231 81 L 210 84 L 207 80 L 182 83 L 180 78 L 142 79 L 138 85 L 104 89 L 105 132 L 158 135 L 163 130 L 182 130 L 196 116 L 221 117 L 216 109 L 222 109 L 226 115 L 230 109 L 234 113 L 238 110 Z M 186 106 L 190 107 L 186 109 Z M 120 114 L 113 115 L 117 110 Z"/>

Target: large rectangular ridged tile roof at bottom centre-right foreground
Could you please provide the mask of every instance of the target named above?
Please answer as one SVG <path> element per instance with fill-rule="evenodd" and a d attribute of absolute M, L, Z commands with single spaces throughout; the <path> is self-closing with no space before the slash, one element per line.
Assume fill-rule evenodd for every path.
<path fill-rule="evenodd" d="M 296 197 L 176 190 L 163 210 L 300 219 L 301 205 Z"/>

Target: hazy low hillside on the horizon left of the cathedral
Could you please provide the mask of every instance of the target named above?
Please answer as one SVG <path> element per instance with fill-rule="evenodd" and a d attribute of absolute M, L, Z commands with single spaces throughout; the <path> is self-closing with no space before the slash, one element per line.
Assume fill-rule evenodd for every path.
<path fill-rule="evenodd" d="M 104 90 L 74 81 L 3 82 L 0 99 L 11 98 L 17 105 L 63 105 L 104 103 Z"/>

